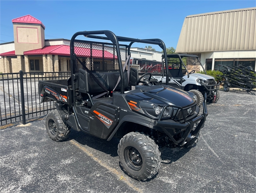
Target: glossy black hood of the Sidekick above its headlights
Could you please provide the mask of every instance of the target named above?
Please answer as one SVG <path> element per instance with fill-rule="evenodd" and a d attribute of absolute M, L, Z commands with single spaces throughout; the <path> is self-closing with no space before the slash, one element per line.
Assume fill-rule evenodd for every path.
<path fill-rule="evenodd" d="M 128 94 L 126 99 L 137 103 L 146 100 L 154 104 L 169 104 L 186 107 L 196 103 L 193 95 L 193 93 L 185 92 L 171 86 L 162 86 L 149 91 Z"/>

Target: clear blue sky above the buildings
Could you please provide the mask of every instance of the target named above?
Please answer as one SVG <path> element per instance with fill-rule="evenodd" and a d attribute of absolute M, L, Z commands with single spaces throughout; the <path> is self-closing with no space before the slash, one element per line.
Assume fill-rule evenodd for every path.
<path fill-rule="evenodd" d="M 186 16 L 255 6 L 256 0 L 0 0 L 0 43 L 14 41 L 12 19 L 29 14 L 46 26 L 45 39 L 70 40 L 79 31 L 111 30 L 117 36 L 160 38 L 166 47 L 176 48 Z"/>

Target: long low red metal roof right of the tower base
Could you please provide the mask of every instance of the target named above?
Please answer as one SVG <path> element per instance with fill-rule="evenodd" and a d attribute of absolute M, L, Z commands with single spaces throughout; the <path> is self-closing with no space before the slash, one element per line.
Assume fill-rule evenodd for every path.
<path fill-rule="evenodd" d="M 81 48 L 75 47 L 76 56 L 90 57 L 90 48 Z M 40 54 L 53 54 L 53 55 L 62 55 L 70 56 L 70 46 L 67 45 L 56 45 L 56 46 L 44 46 L 42 49 L 30 50 L 24 52 L 24 55 L 40 55 Z M 102 50 L 92 49 L 93 58 L 102 58 Z M 104 58 L 106 59 L 117 59 L 117 56 L 114 56 L 108 51 L 104 51 Z"/>

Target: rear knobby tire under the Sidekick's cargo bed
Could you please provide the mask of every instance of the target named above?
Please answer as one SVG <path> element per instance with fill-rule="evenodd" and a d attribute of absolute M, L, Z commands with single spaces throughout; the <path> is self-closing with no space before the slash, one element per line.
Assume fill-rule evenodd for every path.
<path fill-rule="evenodd" d="M 70 127 L 67 127 L 58 111 L 51 111 L 46 116 L 46 130 L 54 141 L 63 141 L 70 135 Z"/>

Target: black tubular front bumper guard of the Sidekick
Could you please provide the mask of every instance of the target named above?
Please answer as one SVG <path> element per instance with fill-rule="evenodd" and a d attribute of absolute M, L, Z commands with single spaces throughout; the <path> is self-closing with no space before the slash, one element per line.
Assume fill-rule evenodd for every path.
<path fill-rule="evenodd" d="M 205 94 L 206 95 L 206 94 Z M 166 105 L 165 107 L 168 107 L 170 105 Z M 165 108 L 164 107 L 164 108 Z M 176 145 L 184 145 L 186 142 L 193 139 L 199 131 L 204 127 L 204 122 L 206 121 L 206 117 L 208 116 L 208 110 L 206 105 L 206 96 L 203 102 L 203 113 L 197 117 L 194 117 L 193 119 L 187 121 L 186 117 L 184 115 L 184 110 L 180 107 L 183 113 L 184 117 L 184 123 L 178 123 L 178 122 L 168 122 L 168 120 L 161 120 L 162 114 L 160 115 L 158 121 L 154 121 L 154 126 L 161 127 L 161 129 L 168 135 L 168 137 L 172 140 L 172 142 Z M 162 110 L 163 112 L 164 110 Z M 198 123 L 196 128 L 194 129 L 194 124 Z M 184 131 L 183 135 L 180 137 L 180 139 L 174 139 L 174 137 L 171 135 L 171 133 L 168 131 L 169 129 L 180 129 L 181 131 Z M 193 130 L 194 129 L 194 130 Z"/>

